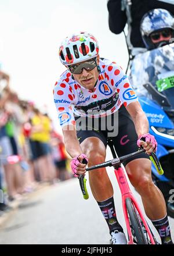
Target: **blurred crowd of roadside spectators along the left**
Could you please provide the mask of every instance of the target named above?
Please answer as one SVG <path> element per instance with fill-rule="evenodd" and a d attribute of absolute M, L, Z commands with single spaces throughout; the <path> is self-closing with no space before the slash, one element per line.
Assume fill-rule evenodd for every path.
<path fill-rule="evenodd" d="M 0 70 L 0 218 L 10 202 L 38 184 L 70 179 L 68 156 L 52 120 L 31 101 L 22 100 Z M 3 193 L 2 193 L 3 191 Z"/>

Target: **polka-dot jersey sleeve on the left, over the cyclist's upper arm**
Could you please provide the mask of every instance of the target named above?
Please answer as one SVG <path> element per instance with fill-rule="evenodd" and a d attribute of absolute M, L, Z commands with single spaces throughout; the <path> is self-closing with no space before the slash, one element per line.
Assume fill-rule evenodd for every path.
<path fill-rule="evenodd" d="M 73 113 L 73 95 L 68 89 L 68 84 L 56 82 L 53 90 L 54 101 L 58 113 L 60 126 L 75 125 Z"/>

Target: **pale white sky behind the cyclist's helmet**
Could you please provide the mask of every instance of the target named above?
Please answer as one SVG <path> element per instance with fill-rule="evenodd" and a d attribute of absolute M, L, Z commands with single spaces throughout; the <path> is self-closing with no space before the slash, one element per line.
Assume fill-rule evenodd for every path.
<path fill-rule="evenodd" d="M 47 111 L 59 130 L 53 86 L 65 67 L 59 46 L 67 35 L 88 31 L 99 42 L 100 56 L 126 70 L 124 34 L 108 28 L 107 0 L 0 0 L 0 63 L 10 87 L 21 99 Z"/>

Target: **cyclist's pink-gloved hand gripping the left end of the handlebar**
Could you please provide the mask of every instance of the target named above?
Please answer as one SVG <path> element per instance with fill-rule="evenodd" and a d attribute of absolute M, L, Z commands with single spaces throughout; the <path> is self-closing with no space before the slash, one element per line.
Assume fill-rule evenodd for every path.
<path fill-rule="evenodd" d="M 82 161 L 86 163 L 82 163 Z M 85 154 L 78 155 L 71 160 L 71 170 L 74 177 L 78 177 L 79 175 L 85 175 L 87 163 L 88 158 Z"/>

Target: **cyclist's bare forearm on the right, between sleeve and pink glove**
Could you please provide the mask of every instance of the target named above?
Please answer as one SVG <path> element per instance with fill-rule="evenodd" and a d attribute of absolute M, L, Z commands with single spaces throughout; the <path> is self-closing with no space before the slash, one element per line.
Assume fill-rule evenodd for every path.
<path fill-rule="evenodd" d="M 143 111 L 137 112 L 135 116 L 132 116 L 132 120 L 135 125 L 137 136 L 148 133 L 148 120 Z"/>

